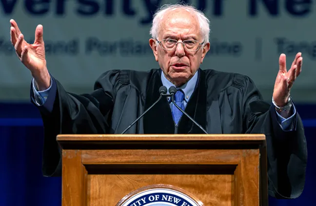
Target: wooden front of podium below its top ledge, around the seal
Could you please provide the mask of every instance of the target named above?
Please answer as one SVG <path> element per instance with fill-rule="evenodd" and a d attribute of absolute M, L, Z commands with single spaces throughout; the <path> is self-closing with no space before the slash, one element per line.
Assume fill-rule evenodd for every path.
<path fill-rule="evenodd" d="M 156 184 L 181 188 L 204 206 L 259 205 L 258 149 L 64 150 L 63 154 L 67 163 L 63 181 L 74 183 L 63 184 L 68 200 L 63 206 L 116 206 L 130 192 Z"/>

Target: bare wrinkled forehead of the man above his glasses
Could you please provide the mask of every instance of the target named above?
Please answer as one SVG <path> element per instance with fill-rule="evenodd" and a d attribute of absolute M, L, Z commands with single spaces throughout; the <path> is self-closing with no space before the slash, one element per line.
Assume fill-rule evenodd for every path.
<path fill-rule="evenodd" d="M 167 36 L 202 40 L 197 16 L 182 8 L 167 11 L 160 21 L 158 37 Z"/>

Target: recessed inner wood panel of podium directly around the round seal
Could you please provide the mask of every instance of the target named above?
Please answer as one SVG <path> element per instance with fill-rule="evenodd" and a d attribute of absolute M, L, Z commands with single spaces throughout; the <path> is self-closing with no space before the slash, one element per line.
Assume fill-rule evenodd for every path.
<path fill-rule="evenodd" d="M 192 194 L 205 206 L 232 206 L 232 175 L 90 175 L 88 206 L 115 206 L 122 198 L 142 186 L 167 184 L 180 187 Z M 203 185 L 196 185 L 197 182 Z M 113 184 L 108 184 L 113 183 Z M 111 198 L 103 198 L 103 197 Z"/>

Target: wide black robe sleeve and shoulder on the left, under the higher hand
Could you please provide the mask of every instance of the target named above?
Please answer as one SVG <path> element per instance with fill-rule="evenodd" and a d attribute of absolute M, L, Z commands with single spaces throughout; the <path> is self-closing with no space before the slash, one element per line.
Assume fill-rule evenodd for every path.
<path fill-rule="evenodd" d="M 39 108 L 44 126 L 43 176 L 61 175 L 61 154 L 56 141 L 58 134 L 113 132 L 111 118 L 114 101 L 120 93 L 128 93 L 129 88 L 128 72 L 112 70 L 99 77 L 91 94 L 66 92 L 60 82 L 52 77 L 52 89 L 41 106 L 32 98 L 34 94 L 31 89 L 31 102 Z"/>

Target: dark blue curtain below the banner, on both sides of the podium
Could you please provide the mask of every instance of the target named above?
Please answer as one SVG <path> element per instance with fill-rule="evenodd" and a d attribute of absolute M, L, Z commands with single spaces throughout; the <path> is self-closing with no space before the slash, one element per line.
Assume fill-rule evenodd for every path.
<path fill-rule="evenodd" d="M 305 126 L 308 166 L 303 194 L 294 200 L 270 198 L 270 206 L 314 206 L 316 105 L 297 105 Z M 61 178 L 41 174 L 43 128 L 29 103 L 0 103 L 0 206 L 61 206 Z"/>

